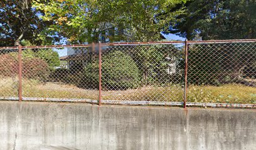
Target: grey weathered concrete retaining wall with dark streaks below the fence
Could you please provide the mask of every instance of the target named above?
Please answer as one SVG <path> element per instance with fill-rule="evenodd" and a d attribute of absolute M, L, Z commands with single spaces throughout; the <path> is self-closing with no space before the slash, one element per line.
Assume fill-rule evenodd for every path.
<path fill-rule="evenodd" d="M 256 111 L 0 102 L 0 149 L 256 149 Z"/>

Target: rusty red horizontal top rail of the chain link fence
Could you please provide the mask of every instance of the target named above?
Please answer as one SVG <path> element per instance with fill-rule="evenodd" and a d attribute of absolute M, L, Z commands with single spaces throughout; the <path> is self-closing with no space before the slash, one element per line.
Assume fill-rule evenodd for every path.
<path fill-rule="evenodd" d="M 121 45 L 147 45 L 147 44 L 179 44 L 185 41 L 158 41 L 158 42 L 109 42 L 102 43 L 105 46 L 121 46 Z M 208 41 L 187 41 L 188 44 L 204 44 L 204 43 L 224 43 L 224 42 L 256 42 L 256 39 L 228 39 L 228 40 L 208 40 Z M 64 48 L 64 47 L 89 47 L 90 44 L 75 45 L 51 45 L 51 46 L 21 46 L 22 49 L 29 48 Z M 0 47 L 1 49 L 18 49 L 18 46 Z"/>

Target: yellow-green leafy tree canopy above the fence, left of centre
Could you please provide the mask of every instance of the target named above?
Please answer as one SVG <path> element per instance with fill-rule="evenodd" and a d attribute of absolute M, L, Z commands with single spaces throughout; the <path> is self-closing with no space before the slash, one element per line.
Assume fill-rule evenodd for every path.
<path fill-rule="evenodd" d="M 72 44 L 98 41 L 99 31 L 107 27 L 106 22 L 112 20 L 114 16 L 108 1 L 35 1 L 37 10 L 44 12 L 41 16 L 44 21 L 53 21 L 48 29 L 58 32 L 63 37 L 67 37 Z M 100 4 L 100 5 L 99 5 Z M 104 7 L 103 7 L 104 6 Z M 107 9 L 107 10 L 106 10 Z"/>

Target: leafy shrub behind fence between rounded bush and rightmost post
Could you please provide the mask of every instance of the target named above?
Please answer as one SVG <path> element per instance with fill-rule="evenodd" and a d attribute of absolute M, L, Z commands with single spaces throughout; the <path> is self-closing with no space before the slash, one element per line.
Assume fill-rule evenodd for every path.
<path fill-rule="evenodd" d="M 161 84 L 178 81 L 176 77 L 167 73 L 168 64 L 176 63 L 178 65 L 183 56 L 182 51 L 177 47 L 173 45 L 137 46 L 132 53 L 143 77 L 142 83 Z"/>

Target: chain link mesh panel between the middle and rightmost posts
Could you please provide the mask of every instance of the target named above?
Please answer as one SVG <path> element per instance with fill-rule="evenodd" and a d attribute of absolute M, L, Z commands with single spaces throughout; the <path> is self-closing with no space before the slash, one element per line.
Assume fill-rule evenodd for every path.
<path fill-rule="evenodd" d="M 105 46 L 102 99 L 181 101 L 184 44 Z"/>

